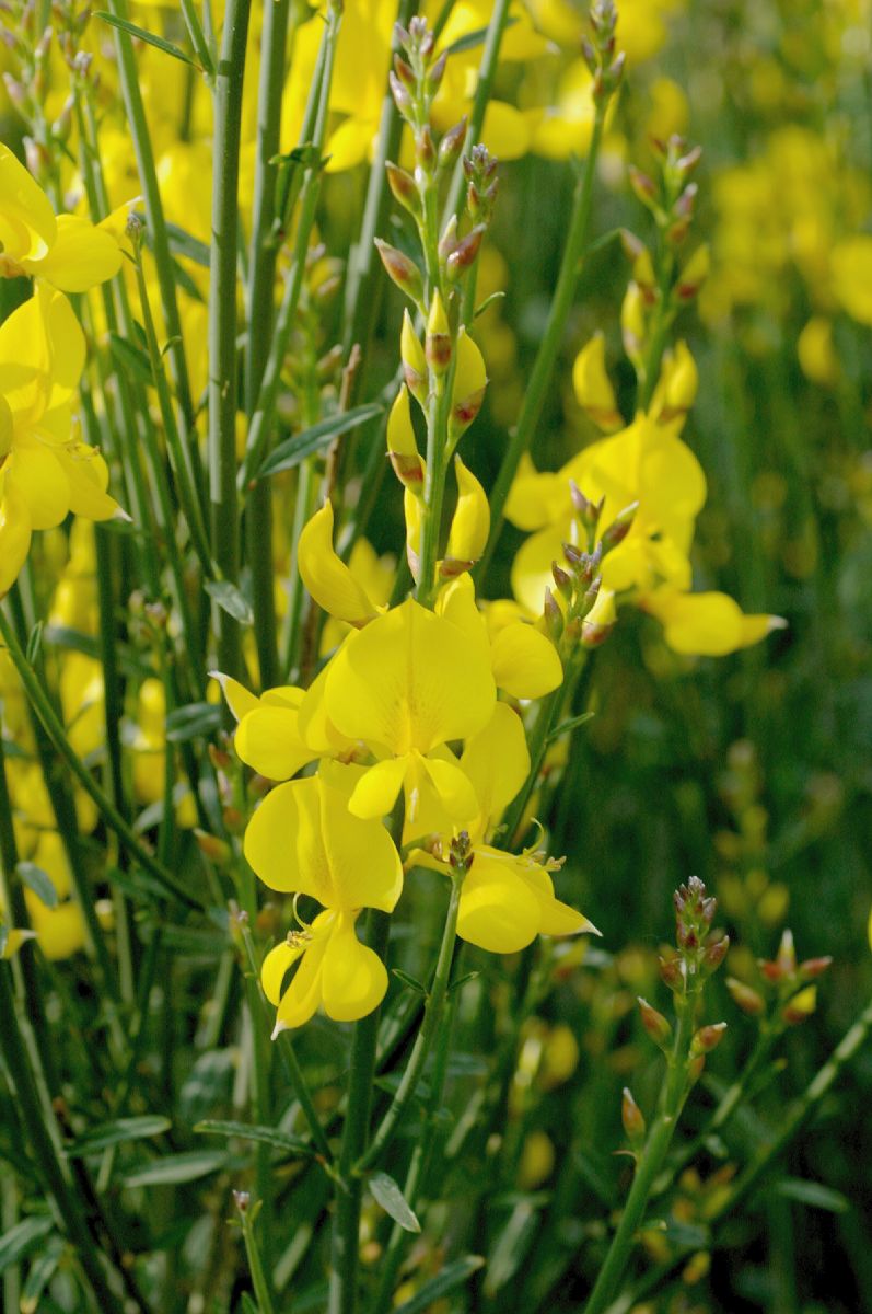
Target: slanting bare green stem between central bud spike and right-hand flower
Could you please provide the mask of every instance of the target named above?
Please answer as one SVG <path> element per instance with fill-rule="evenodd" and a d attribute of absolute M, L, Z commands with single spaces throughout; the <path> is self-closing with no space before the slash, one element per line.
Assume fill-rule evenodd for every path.
<path fill-rule="evenodd" d="M 608 100 L 598 101 L 596 117 L 594 118 L 594 133 L 587 151 L 587 159 L 584 160 L 584 170 L 575 185 L 569 235 L 566 238 L 563 259 L 557 277 L 554 298 L 548 315 L 548 325 L 545 326 L 545 334 L 538 352 L 536 353 L 533 369 L 531 371 L 529 384 L 527 385 L 524 402 L 521 405 L 521 413 L 517 418 L 517 427 L 508 440 L 506 455 L 503 456 L 503 464 L 500 465 L 496 482 L 494 484 L 490 495 L 491 531 L 485 553 L 475 568 L 475 577 L 478 581 L 482 581 L 487 574 L 487 568 L 491 557 L 494 556 L 496 541 L 503 527 L 506 501 L 515 481 L 520 460 L 533 440 L 533 434 L 550 388 L 554 365 L 557 364 L 557 357 L 563 343 L 566 322 L 575 300 L 578 276 L 587 246 L 587 233 L 594 204 L 596 160 L 599 159 L 600 146 L 603 142 L 603 127 L 605 124 Z"/>

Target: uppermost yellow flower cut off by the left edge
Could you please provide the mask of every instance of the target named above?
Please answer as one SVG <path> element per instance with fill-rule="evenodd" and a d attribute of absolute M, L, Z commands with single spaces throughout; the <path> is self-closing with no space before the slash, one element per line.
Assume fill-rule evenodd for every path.
<path fill-rule="evenodd" d="M 59 214 L 28 170 L 0 142 L 0 276 L 46 279 L 87 292 L 121 268 L 118 243 L 76 214 Z"/>

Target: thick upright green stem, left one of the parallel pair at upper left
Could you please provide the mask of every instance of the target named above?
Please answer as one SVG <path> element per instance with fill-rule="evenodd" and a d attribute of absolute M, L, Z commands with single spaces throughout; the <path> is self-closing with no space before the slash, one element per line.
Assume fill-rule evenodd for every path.
<path fill-rule="evenodd" d="M 229 0 L 214 96 L 211 252 L 209 280 L 209 499 L 211 545 L 221 578 L 239 577 L 236 509 L 236 251 L 239 137 L 251 0 Z M 214 606 L 218 665 L 239 675 L 239 623 Z"/>

